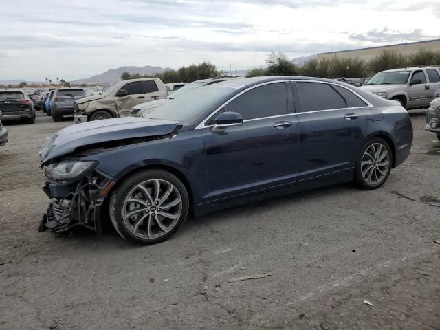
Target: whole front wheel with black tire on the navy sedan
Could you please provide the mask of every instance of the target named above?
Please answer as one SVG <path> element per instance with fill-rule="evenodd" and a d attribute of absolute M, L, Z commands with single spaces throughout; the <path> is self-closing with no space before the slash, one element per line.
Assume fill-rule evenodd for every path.
<path fill-rule="evenodd" d="M 118 233 L 129 241 L 155 244 L 173 236 L 188 215 L 184 184 L 164 170 L 143 170 L 115 189 L 110 214 Z"/>

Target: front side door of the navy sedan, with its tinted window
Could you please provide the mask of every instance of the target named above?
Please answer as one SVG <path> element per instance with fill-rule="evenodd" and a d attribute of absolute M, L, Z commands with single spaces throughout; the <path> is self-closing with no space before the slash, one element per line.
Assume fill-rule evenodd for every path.
<path fill-rule="evenodd" d="M 254 87 L 222 109 L 240 113 L 242 126 L 204 129 L 210 200 L 295 184 L 299 126 L 288 95 L 285 82 Z"/>

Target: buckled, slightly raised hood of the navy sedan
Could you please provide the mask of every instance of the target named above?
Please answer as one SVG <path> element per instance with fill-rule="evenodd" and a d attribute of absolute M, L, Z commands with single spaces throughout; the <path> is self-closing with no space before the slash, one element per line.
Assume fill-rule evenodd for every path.
<path fill-rule="evenodd" d="M 57 157 L 73 153 L 81 146 L 136 137 L 168 135 L 173 133 L 178 125 L 179 122 L 173 120 L 125 117 L 68 126 L 52 135 L 41 146 L 39 152 L 41 165 Z"/>

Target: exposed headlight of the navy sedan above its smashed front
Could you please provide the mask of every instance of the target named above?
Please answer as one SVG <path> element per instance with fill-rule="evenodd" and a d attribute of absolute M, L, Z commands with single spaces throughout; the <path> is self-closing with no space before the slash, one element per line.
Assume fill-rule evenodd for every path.
<path fill-rule="evenodd" d="M 46 176 L 62 183 L 74 182 L 89 174 L 96 164 L 95 161 L 54 163 L 46 167 Z"/>

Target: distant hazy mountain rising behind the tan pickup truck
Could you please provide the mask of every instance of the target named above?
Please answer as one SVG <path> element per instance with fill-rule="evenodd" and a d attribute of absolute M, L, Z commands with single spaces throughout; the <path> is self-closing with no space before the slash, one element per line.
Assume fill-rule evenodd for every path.
<path fill-rule="evenodd" d="M 105 84 L 105 83 L 115 83 L 121 80 L 123 72 L 129 72 L 129 74 L 140 74 L 140 75 L 151 75 L 162 73 L 164 71 L 170 70 L 169 67 L 151 67 L 146 65 L 144 67 L 118 67 L 118 69 L 109 69 L 103 74 L 97 74 L 96 76 L 91 76 L 90 78 L 72 80 L 69 83 L 72 84 Z"/>

